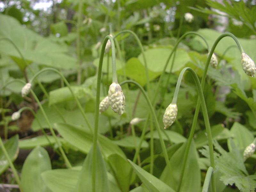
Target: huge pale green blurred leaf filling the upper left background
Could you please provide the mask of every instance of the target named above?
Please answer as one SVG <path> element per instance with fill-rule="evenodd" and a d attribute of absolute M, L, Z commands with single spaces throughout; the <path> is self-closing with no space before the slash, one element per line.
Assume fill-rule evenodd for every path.
<path fill-rule="evenodd" d="M 76 68 L 76 59 L 68 56 L 68 47 L 65 44 L 55 44 L 49 39 L 38 35 L 28 28 L 24 28 L 13 17 L 0 14 L 0 37 L 11 39 L 19 48 L 28 64 L 35 62 L 54 68 Z M 25 62 L 13 45 L 1 40 L 0 52 L 9 55 L 21 70 L 26 67 Z"/>

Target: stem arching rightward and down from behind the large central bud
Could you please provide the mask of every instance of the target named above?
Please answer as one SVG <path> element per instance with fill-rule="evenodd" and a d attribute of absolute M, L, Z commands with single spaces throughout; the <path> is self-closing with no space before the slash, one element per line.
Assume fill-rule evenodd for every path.
<path fill-rule="evenodd" d="M 160 129 L 160 126 L 159 126 L 157 117 L 156 117 L 155 110 L 154 110 L 154 108 L 153 108 L 153 105 L 152 105 L 151 101 L 150 101 L 149 98 L 148 98 L 147 93 L 145 92 L 145 90 L 143 89 L 143 87 L 142 87 L 140 84 L 138 84 L 137 82 L 135 82 L 135 81 L 132 81 L 132 80 L 123 81 L 122 83 L 120 83 L 120 85 L 123 85 L 123 84 L 125 84 L 125 83 L 133 83 L 133 84 L 137 85 L 137 86 L 139 87 L 140 91 L 142 92 L 143 96 L 144 96 L 145 99 L 147 100 L 147 103 L 148 103 L 148 106 L 149 106 L 149 109 L 150 109 L 150 113 L 151 113 L 151 115 L 153 116 L 153 119 L 154 119 L 154 121 L 155 121 L 156 130 L 157 130 L 157 132 L 158 132 L 160 144 L 161 144 L 161 147 L 162 147 L 162 150 L 163 150 L 165 163 L 166 163 L 166 166 L 167 166 L 168 169 L 169 169 L 169 172 L 171 172 L 171 171 L 172 171 L 171 163 L 170 163 L 170 161 L 169 161 L 169 157 L 168 157 L 168 154 L 167 154 L 167 150 L 166 150 L 166 147 L 165 147 L 165 144 L 164 144 L 164 140 L 163 140 L 163 137 L 162 137 L 162 134 L 161 134 L 161 129 Z M 172 177 L 172 174 L 171 174 L 171 177 Z"/>

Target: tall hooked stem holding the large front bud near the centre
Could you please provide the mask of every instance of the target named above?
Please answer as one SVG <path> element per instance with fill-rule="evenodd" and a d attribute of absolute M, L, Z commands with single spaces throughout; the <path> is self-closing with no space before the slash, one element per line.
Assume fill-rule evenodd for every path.
<path fill-rule="evenodd" d="M 116 75 L 116 51 L 115 51 L 115 42 L 111 36 L 106 36 L 100 52 L 100 61 L 98 67 L 98 76 L 97 76 L 97 93 L 96 93 L 96 107 L 95 107 L 95 124 L 94 124 L 94 132 L 93 132 L 93 144 L 92 144 L 92 191 L 95 192 L 95 177 L 96 177 L 96 148 L 97 148 L 97 141 L 98 141 L 98 127 L 99 127 L 99 105 L 100 105 L 100 82 L 101 82 L 101 75 L 102 75 L 102 65 L 103 65 L 103 58 L 106 44 L 110 40 L 111 42 L 111 49 L 112 49 L 112 80 L 114 83 L 117 82 L 117 75 Z"/>

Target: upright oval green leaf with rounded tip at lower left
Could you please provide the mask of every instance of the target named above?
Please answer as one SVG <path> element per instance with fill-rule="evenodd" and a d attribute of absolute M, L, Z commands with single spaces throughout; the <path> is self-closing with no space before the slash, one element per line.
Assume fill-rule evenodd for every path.
<path fill-rule="evenodd" d="M 21 185 L 26 192 L 50 192 L 45 186 L 41 173 L 52 169 L 48 152 L 37 146 L 26 158 L 21 170 Z"/>

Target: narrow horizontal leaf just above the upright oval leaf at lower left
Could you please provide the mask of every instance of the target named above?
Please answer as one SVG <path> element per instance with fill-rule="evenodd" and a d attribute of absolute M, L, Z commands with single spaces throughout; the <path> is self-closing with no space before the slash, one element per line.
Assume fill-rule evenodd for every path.
<path fill-rule="evenodd" d="M 56 142 L 54 137 L 50 136 L 50 135 L 47 135 L 47 137 L 50 140 L 51 144 L 54 145 Z M 34 138 L 30 138 L 30 139 L 19 140 L 19 147 L 21 149 L 32 149 L 32 148 L 35 148 L 36 146 L 45 147 L 45 146 L 49 146 L 49 145 L 50 145 L 50 143 L 44 135 L 37 136 Z"/>

